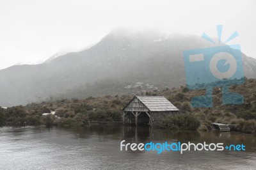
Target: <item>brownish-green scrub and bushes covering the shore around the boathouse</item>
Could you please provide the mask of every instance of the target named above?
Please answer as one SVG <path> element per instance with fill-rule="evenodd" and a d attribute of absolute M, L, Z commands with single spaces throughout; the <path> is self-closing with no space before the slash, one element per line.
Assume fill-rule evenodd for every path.
<path fill-rule="evenodd" d="M 143 95 L 164 96 L 181 111 L 200 121 L 199 130 L 211 130 L 211 123 L 236 124 L 237 131 L 256 131 L 256 79 L 246 79 L 244 84 L 231 86 L 230 91 L 244 96 L 243 105 L 221 105 L 221 88 L 213 89 L 214 107 L 193 108 L 192 97 L 204 95 L 204 90 L 189 91 L 186 87 L 147 91 Z M 138 92 L 137 95 L 141 95 Z M 133 96 L 88 97 L 85 99 L 47 100 L 0 109 L 0 125 L 58 125 L 61 127 L 84 126 L 88 121 L 122 121 L 122 108 Z M 56 111 L 56 116 L 42 116 L 44 112 Z M 182 112 L 179 112 L 182 114 Z M 170 118 L 166 118 L 170 119 Z M 177 119 L 177 118 L 176 118 Z M 184 120 L 184 116 L 182 117 Z M 186 119 L 185 119 L 186 120 Z M 164 123 L 168 120 L 164 120 Z M 182 124 L 182 122 L 181 122 Z M 198 126 L 198 123 L 196 123 Z M 167 124 L 166 124 L 167 125 Z M 172 126 L 170 126 L 172 128 Z M 169 127 L 169 128 L 170 128 Z M 168 127 L 166 127 L 168 128 Z M 176 127 L 177 129 L 177 127 Z M 186 128 L 183 128 L 186 129 Z M 191 128 L 193 129 L 193 127 Z"/>

